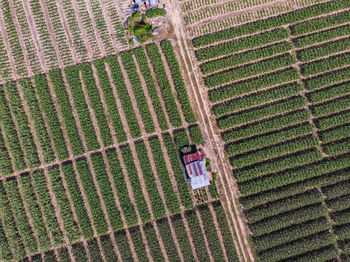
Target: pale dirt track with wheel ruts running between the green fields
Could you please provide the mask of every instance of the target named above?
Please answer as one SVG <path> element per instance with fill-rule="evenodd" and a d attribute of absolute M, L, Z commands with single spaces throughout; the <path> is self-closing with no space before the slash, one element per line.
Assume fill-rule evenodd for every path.
<path fill-rule="evenodd" d="M 183 71 L 186 71 L 188 78 L 191 80 L 190 86 L 192 88 L 192 93 L 194 94 L 194 99 L 198 105 L 198 115 L 200 117 L 199 120 L 200 123 L 207 123 L 206 125 L 202 124 L 203 127 L 206 127 L 206 129 L 203 131 L 205 131 L 205 137 L 208 137 L 209 135 L 210 138 L 208 137 L 208 146 L 211 148 L 213 156 L 218 161 L 218 167 L 220 170 L 218 179 L 219 183 L 223 186 L 224 190 L 222 193 L 224 194 L 224 199 L 227 202 L 227 206 L 224 205 L 224 207 L 226 207 L 226 212 L 229 212 L 235 231 L 237 232 L 236 235 L 239 243 L 237 253 L 243 256 L 246 261 L 253 261 L 254 256 L 248 243 L 248 234 L 246 232 L 246 227 L 242 218 L 240 217 L 241 211 L 237 203 L 237 189 L 233 188 L 234 181 L 232 181 L 232 175 L 228 168 L 228 162 L 224 156 L 223 144 L 215 132 L 213 122 L 208 118 L 211 116 L 208 99 L 205 99 L 203 97 L 204 92 L 199 90 L 199 86 L 201 86 L 199 84 L 200 76 L 194 66 L 193 61 L 195 61 L 195 58 L 190 55 L 190 50 L 187 44 L 188 40 L 186 38 L 185 32 L 183 31 L 184 25 L 181 18 L 181 12 L 176 3 L 172 2 L 171 0 L 168 0 L 167 2 L 167 6 L 173 14 L 171 19 L 174 25 L 176 38 L 178 39 L 177 42 L 180 46 L 179 50 L 182 57 L 187 60 L 187 63 L 184 63 Z M 233 195 L 233 193 L 235 193 L 235 195 Z"/>

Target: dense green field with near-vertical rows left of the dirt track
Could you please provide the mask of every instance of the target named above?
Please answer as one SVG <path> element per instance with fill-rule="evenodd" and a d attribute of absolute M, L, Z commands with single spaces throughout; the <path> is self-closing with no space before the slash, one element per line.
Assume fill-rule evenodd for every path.
<path fill-rule="evenodd" d="M 193 192 L 179 159 L 204 139 L 178 61 L 165 41 L 0 85 L 1 261 L 237 257 L 215 185 Z"/>

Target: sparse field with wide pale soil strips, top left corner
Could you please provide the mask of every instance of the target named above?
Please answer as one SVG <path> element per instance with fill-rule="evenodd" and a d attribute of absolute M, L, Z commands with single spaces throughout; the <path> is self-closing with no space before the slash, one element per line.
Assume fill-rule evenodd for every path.
<path fill-rule="evenodd" d="M 0 83 L 96 60 L 128 47 L 111 0 L 1 0 Z"/>

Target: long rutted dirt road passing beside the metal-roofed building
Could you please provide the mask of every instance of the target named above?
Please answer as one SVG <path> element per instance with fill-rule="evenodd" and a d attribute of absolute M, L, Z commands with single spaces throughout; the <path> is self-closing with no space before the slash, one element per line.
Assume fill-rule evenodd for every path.
<path fill-rule="evenodd" d="M 205 87 L 201 86 L 201 78 L 197 67 L 195 67 L 195 57 L 191 52 L 189 44 L 190 38 L 185 32 L 185 23 L 181 16 L 180 7 L 177 1 L 166 0 L 170 23 L 174 27 L 175 49 L 178 52 L 180 63 L 183 65 L 183 72 L 187 74 L 185 78 L 191 88 L 190 96 L 196 102 L 195 110 L 198 113 L 198 121 L 202 126 L 202 132 L 206 138 L 206 148 L 217 162 L 219 170 L 219 183 L 222 186 L 221 194 L 224 200 L 226 212 L 233 222 L 233 228 L 237 238 L 236 249 L 242 261 L 254 261 L 253 252 L 248 243 L 248 233 L 242 220 L 241 211 L 237 202 L 237 190 L 234 185 L 232 172 L 229 163 L 224 156 L 224 147 L 220 137 L 215 132 L 215 123 L 210 119 L 210 105 L 206 99 Z"/>

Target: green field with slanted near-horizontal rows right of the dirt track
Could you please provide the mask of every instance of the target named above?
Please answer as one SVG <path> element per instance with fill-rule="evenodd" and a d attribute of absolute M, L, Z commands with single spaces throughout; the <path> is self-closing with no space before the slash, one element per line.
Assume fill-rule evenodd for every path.
<path fill-rule="evenodd" d="M 350 2 L 318 2 L 192 39 L 257 261 L 350 258 Z"/>

